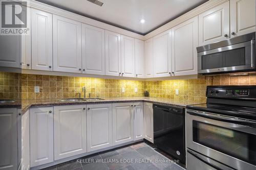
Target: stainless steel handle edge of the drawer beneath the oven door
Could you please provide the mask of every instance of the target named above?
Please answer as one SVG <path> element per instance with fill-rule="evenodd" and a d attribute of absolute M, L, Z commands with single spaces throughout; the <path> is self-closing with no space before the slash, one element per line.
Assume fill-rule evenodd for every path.
<path fill-rule="evenodd" d="M 236 170 L 236 169 L 234 169 L 234 168 L 232 168 L 230 166 L 227 166 L 227 165 L 224 165 L 222 163 L 219 163 L 219 162 L 217 162 L 217 161 L 215 161 L 215 160 L 213 160 L 213 159 L 211 159 L 209 157 L 206 157 L 206 156 L 204 156 L 202 154 L 199 154 L 199 153 L 197 153 L 195 151 L 192 151 L 192 150 L 190 150 L 188 148 L 187 148 L 187 152 L 189 154 L 191 154 L 192 156 L 196 157 L 197 159 L 199 159 L 200 161 L 204 162 L 205 164 L 207 164 L 207 165 L 209 165 L 209 166 L 211 166 L 211 167 L 213 167 L 213 168 L 215 168 L 217 170 Z"/>

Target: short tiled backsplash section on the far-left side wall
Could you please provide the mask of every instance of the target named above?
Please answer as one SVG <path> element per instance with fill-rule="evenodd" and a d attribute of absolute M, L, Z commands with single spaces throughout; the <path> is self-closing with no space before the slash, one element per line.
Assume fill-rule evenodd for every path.
<path fill-rule="evenodd" d="M 20 74 L 0 72 L 0 99 L 20 99 Z"/>

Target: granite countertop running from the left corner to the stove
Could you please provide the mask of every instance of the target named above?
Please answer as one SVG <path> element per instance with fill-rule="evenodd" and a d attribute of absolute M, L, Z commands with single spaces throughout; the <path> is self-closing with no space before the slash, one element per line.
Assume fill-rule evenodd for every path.
<path fill-rule="evenodd" d="M 122 102 L 150 102 L 162 105 L 174 105 L 186 107 L 187 105 L 200 104 L 197 102 L 187 102 L 181 100 L 151 98 L 151 97 L 130 97 L 130 98 L 103 98 L 97 101 L 78 101 L 78 102 L 62 102 L 60 99 L 34 99 L 22 100 L 22 113 L 24 114 L 31 107 L 41 106 L 61 106 L 61 105 L 79 105 L 79 104 L 100 104 L 100 103 L 122 103 Z"/>

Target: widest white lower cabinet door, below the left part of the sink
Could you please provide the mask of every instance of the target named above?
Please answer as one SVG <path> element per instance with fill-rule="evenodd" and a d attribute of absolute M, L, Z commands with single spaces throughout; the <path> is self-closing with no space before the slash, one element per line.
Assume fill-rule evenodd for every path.
<path fill-rule="evenodd" d="M 86 106 L 54 107 L 54 160 L 87 152 Z"/>

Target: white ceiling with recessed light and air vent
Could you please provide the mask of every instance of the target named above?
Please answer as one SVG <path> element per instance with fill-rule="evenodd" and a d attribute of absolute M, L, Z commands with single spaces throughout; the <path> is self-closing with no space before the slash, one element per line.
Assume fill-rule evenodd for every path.
<path fill-rule="evenodd" d="M 37 1 L 145 35 L 207 0 L 99 0 L 102 7 L 87 0 Z"/>

